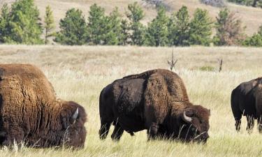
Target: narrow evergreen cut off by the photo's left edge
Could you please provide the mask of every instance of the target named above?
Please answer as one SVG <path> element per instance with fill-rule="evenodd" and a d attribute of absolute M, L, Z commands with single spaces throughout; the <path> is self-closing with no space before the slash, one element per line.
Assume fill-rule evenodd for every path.
<path fill-rule="evenodd" d="M 4 43 L 7 36 L 10 33 L 10 29 L 8 29 L 9 19 L 10 19 L 10 12 L 7 3 L 5 3 L 1 8 L 1 16 L 0 16 L 0 43 Z"/>

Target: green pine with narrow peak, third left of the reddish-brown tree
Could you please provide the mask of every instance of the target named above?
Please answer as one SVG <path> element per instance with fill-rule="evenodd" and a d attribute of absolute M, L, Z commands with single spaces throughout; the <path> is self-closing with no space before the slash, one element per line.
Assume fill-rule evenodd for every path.
<path fill-rule="evenodd" d="M 150 46 L 165 46 L 168 43 L 168 17 L 166 10 L 159 7 L 157 17 L 148 24 L 146 41 Z"/>

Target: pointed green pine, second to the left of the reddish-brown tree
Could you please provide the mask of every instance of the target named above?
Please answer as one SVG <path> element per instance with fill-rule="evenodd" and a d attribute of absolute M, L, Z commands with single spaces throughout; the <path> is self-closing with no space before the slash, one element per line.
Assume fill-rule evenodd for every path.
<path fill-rule="evenodd" d="M 189 13 L 182 6 L 176 14 L 171 15 L 168 23 L 168 40 L 170 45 L 189 45 Z"/>

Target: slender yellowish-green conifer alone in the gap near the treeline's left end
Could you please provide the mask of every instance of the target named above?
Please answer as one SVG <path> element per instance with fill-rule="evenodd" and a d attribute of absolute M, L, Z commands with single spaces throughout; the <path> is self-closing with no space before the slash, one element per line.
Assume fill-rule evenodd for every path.
<path fill-rule="evenodd" d="M 54 36 L 52 32 L 54 30 L 54 17 L 50 6 L 45 8 L 45 44 L 48 44 L 48 38 Z"/>

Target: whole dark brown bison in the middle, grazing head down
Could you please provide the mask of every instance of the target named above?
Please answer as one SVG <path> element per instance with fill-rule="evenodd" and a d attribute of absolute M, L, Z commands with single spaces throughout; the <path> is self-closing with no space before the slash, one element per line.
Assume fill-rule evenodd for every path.
<path fill-rule="evenodd" d="M 170 70 L 149 70 L 129 75 L 105 87 L 100 94 L 101 140 L 115 125 L 112 140 L 124 130 L 147 129 L 148 139 L 161 137 L 185 142 L 206 142 L 210 110 L 192 105 L 182 79 Z"/>

